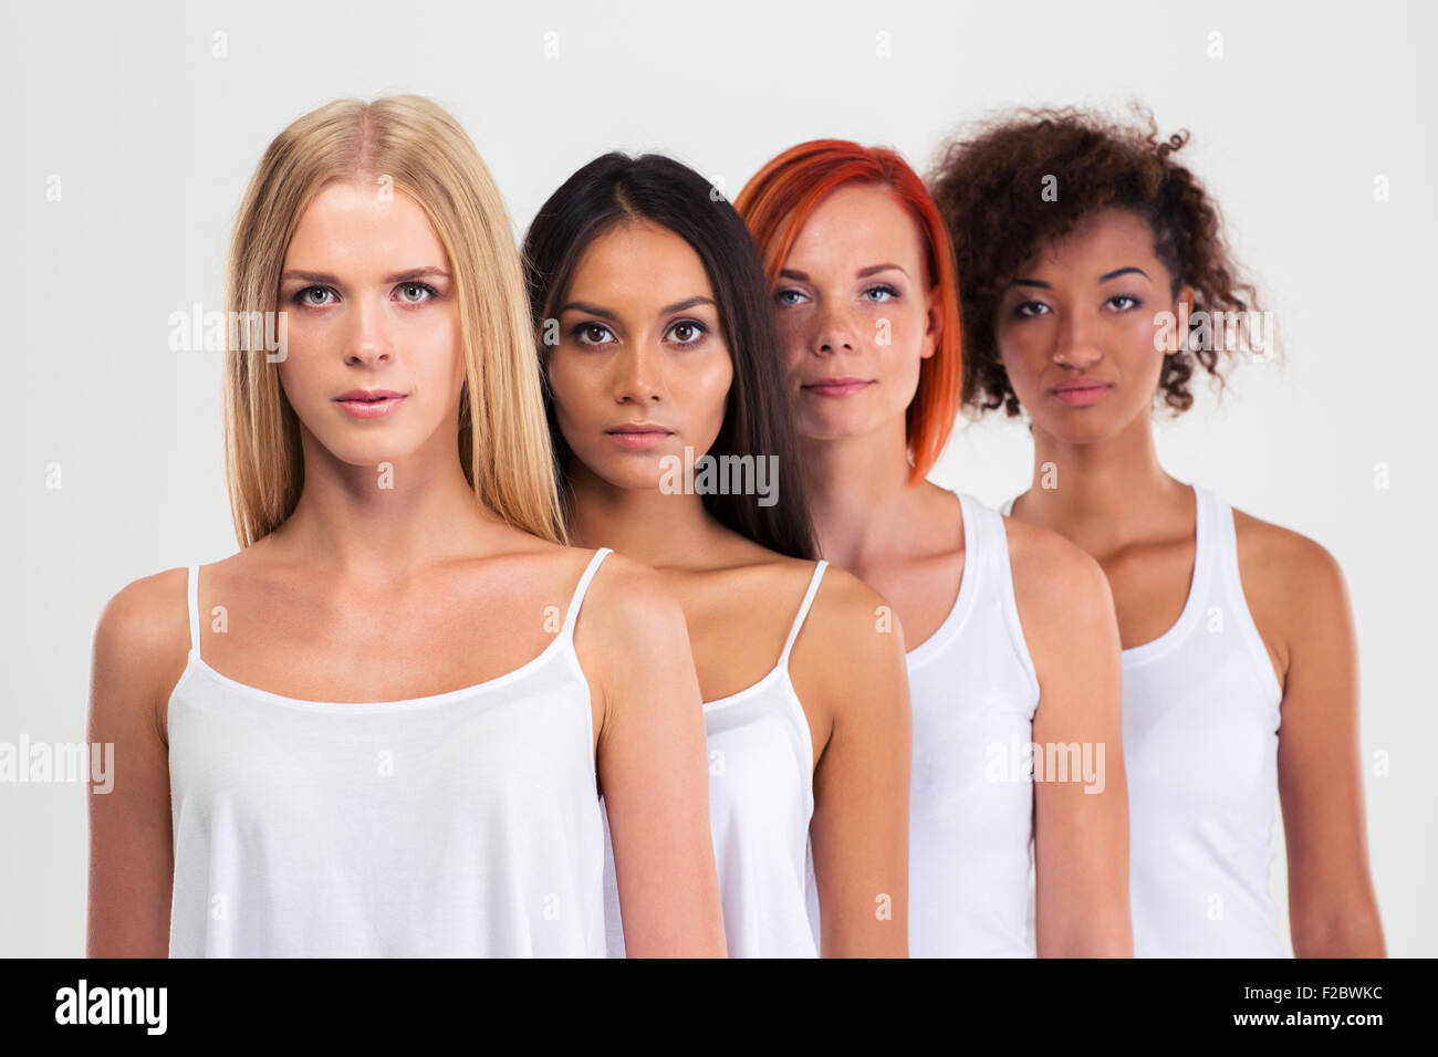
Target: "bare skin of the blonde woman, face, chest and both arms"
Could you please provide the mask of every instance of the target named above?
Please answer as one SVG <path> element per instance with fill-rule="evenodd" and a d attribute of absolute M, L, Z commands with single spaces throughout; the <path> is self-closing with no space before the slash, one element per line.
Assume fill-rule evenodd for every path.
<path fill-rule="evenodd" d="M 552 640 L 591 551 L 512 528 L 475 502 L 456 443 L 463 349 L 443 246 L 423 209 L 372 181 L 328 186 L 283 262 L 280 383 L 301 420 L 305 488 L 275 532 L 200 575 L 204 664 L 288 697 L 388 702 L 475 686 Z M 354 417 L 351 390 L 403 394 Z M 393 488 L 378 488 L 380 463 Z M 223 605 L 227 630 L 206 614 Z M 722 956 L 705 729 L 683 613 L 610 555 L 575 624 L 608 798 L 626 943 Z M 95 634 L 89 738 L 122 774 L 91 795 L 88 951 L 165 956 L 174 869 L 168 700 L 187 666 L 186 569 L 124 588 Z M 636 677 L 641 674 L 641 677 Z M 650 840 L 664 833 L 663 841 Z M 646 883 L 644 879 L 651 879 Z"/>

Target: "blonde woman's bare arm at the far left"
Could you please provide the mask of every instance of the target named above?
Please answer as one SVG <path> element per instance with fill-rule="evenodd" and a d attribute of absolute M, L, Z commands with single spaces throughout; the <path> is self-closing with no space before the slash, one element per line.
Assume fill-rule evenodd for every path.
<path fill-rule="evenodd" d="M 157 706 L 187 650 L 183 600 L 183 569 L 148 577 L 116 594 L 95 628 L 88 741 L 114 745 L 114 774 L 109 792 L 88 791 L 91 958 L 170 953 L 170 756 Z"/>

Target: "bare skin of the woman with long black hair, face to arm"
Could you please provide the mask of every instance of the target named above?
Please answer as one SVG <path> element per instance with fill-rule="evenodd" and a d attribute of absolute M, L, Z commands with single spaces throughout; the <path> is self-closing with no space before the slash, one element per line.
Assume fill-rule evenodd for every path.
<path fill-rule="evenodd" d="M 725 417 L 733 360 L 699 255 L 673 232 L 621 223 L 584 252 L 549 354 L 574 452 L 572 531 L 657 569 L 679 598 L 706 702 L 774 669 L 814 564 L 715 519 L 699 495 L 660 489 L 664 456 L 697 459 Z M 654 423 L 634 447 L 613 433 Z M 784 502 L 784 498 L 778 498 Z M 828 569 L 789 657 L 812 743 L 810 837 L 825 956 L 907 953 L 909 693 L 903 634 L 876 630 L 883 600 Z M 876 913 L 884 899 L 889 915 Z"/>

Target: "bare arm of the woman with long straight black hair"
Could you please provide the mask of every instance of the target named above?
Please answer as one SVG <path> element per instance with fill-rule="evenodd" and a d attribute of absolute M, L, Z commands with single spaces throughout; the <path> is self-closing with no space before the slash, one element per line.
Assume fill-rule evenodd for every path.
<path fill-rule="evenodd" d="M 800 700 L 831 728 L 810 821 L 825 958 L 909 956 L 909 673 L 899 618 L 880 608 L 827 569 L 791 664 Z"/>

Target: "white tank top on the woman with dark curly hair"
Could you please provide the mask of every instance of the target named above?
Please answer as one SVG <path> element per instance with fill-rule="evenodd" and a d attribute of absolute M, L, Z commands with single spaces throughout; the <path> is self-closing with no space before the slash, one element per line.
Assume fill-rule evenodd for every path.
<path fill-rule="evenodd" d="M 1232 508 L 1192 488 L 1183 611 L 1123 651 L 1133 953 L 1286 958 L 1268 896 L 1283 687 L 1244 600 Z"/>

